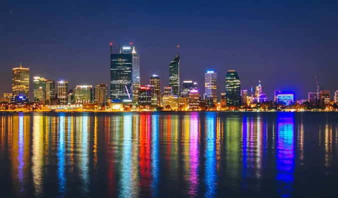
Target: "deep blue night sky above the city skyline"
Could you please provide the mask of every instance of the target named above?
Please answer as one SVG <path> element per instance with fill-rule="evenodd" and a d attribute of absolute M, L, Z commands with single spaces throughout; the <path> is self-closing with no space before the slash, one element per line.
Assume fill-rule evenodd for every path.
<path fill-rule="evenodd" d="M 146 3 L 144 3 L 146 2 Z M 0 1 L 0 93 L 12 91 L 12 68 L 31 79 L 79 84 L 110 82 L 109 43 L 133 42 L 141 85 L 152 74 L 167 86 L 180 45 L 181 81 L 204 90 L 204 73 L 238 72 L 241 88 L 261 80 L 297 99 L 338 90 L 338 1 Z M 33 86 L 31 86 L 32 93 Z"/>

